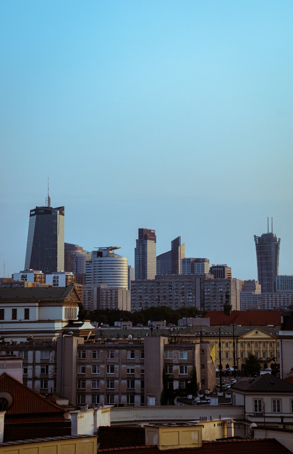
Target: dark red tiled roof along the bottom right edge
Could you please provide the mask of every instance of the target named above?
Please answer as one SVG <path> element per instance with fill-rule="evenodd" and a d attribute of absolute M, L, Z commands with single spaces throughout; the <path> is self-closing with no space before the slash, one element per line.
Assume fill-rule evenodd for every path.
<path fill-rule="evenodd" d="M 98 439 L 99 441 L 99 439 Z M 133 446 L 126 448 L 98 449 L 98 452 L 120 451 L 121 454 L 159 454 L 157 446 Z M 165 454 L 288 454 L 291 453 L 276 439 L 224 439 L 203 441 L 201 448 L 167 449 Z"/>

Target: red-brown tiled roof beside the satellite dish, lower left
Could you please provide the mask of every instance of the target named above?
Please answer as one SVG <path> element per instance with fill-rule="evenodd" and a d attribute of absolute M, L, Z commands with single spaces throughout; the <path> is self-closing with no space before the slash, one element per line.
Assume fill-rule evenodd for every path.
<path fill-rule="evenodd" d="M 6 373 L 0 376 L 0 390 L 9 391 L 14 404 L 5 413 L 5 422 L 64 421 L 64 410 Z"/>

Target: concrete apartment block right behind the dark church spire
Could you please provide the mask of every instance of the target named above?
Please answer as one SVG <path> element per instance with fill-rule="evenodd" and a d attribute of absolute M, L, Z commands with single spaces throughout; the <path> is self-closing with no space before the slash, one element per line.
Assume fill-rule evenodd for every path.
<path fill-rule="evenodd" d="M 204 310 L 223 311 L 225 293 L 228 291 L 232 310 L 240 309 L 240 280 L 239 279 L 205 279 L 204 281 Z"/>

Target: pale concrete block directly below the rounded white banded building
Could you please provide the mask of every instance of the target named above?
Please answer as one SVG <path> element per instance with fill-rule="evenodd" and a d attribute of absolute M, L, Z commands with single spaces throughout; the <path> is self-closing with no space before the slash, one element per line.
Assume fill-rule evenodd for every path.
<path fill-rule="evenodd" d="M 83 286 L 83 305 L 87 311 L 95 309 L 130 311 L 130 290 L 113 288 L 106 284 L 86 284 Z"/>

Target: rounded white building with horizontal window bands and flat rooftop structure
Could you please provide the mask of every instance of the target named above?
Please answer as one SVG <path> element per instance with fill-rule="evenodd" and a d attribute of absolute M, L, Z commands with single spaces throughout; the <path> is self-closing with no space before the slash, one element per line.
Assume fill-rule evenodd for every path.
<path fill-rule="evenodd" d="M 99 247 L 85 265 L 86 284 L 128 288 L 128 258 L 115 254 L 117 246 Z"/>

